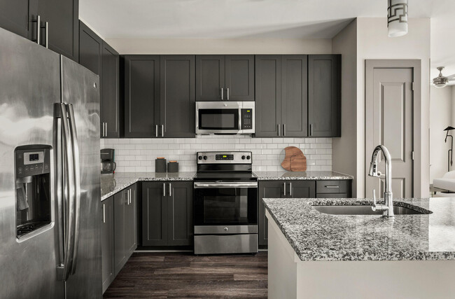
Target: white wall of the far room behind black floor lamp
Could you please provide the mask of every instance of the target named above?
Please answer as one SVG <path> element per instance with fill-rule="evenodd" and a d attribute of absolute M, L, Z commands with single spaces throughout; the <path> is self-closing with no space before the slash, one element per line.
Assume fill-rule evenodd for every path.
<path fill-rule="evenodd" d="M 430 182 L 447 172 L 447 151 L 450 138 L 444 143 L 444 129 L 455 123 L 452 118 L 455 105 L 452 104 L 453 88 L 430 88 Z M 455 131 L 449 134 L 454 135 Z"/>

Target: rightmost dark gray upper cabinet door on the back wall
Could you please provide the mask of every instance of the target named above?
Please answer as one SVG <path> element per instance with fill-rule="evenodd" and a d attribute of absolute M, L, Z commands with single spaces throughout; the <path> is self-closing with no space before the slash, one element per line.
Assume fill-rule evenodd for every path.
<path fill-rule="evenodd" d="M 308 134 L 310 137 L 341 136 L 340 71 L 340 55 L 309 55 Z"/>

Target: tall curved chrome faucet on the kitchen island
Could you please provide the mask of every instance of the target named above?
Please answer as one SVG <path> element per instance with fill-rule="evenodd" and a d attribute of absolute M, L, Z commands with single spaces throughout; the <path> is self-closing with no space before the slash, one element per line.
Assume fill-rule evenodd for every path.
<path fill-rule="evenodd" d="M 379 145 L 374 148 L 371 163 L 370 163 L 370 172 L 369 176 L 381 177 L 381 172 L 377 171 L 377 156 L 379 151 L 384 153 L 384 158 L 386 160 L 386 188 L 384 191 L 384 203 L 385 204 L 376 204 L 376 190 L 373 190 L 373 206 L 371 207 L 373 211 L 384 211 L 382 216 L 391 218 L 393 217 L 393 195 L 392 195 L 392 160 L 388 149 L 385 146 Z"/>

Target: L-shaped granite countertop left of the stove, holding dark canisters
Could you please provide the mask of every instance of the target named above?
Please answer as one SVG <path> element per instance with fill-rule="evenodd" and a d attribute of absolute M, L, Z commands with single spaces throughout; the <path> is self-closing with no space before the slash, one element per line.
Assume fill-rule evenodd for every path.
<path fill-rule="evenodd" d="M 101 175 L 101 200 L 118 193 L 137 181 L 193 181 L 196 172 L 116 172 Z"/>

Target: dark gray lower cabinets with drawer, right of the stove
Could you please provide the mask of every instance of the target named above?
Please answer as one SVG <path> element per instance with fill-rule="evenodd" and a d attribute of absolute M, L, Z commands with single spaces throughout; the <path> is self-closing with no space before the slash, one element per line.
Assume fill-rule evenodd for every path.
<path fill-rule="evenodd" d="M 352 180 L 259 181 L 258 244 L 267 246 L 267 217 L 262 198 L 349 198 Z"/>

